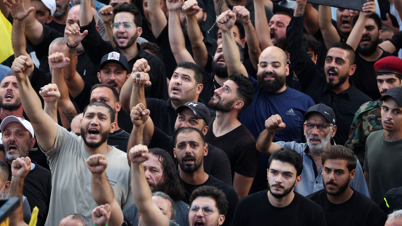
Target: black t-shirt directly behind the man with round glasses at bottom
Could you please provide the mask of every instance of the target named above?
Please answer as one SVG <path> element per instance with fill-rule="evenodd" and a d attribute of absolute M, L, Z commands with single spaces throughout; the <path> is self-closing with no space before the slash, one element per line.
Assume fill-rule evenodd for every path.
<path fill-rule="evenodd" d="M 180 171 L 177 171 L 177 174 L 180 178 Z M 188 183 L 185 183 L 181 178 L 180 178 L 180 182 L 183 184 L 184 190 L 185 190 L 185 197 L 183 198 L 182 201 L 184 201 L 185 203 L 191 205 L 190 203 L 190 196 L 191 193 L 193 193 L 193 191 L 201 186 L 215 186 L 218 189 L 221 189 L 222 192 L 226 195 L 226 199 L 229 202 L 229 208 L 228 208 L 228 214 L 226 214 L 225 216 L 225 222 L 224 224 L 222 224 L 222 226 L 229 226 L 232 223 L 232 219 L 233 219 L 233 214 L 234 214 L 234 210 L 236 208 L 236 205 L 239 201 L 239 197 L 237 196 L 236 191 L 233 189 L 233 187 L 230 187 L 228 185 L 226 185 L 225 183 L 223 183 L 222 181 L 219 181 L 218 179 L 216 179 L 215 177 L 212 177 L 212 175 L 208 174 L 208 179 L 207 181 L 205 181 L 204 183 L 200 184 L 200 185 L 190 185 Z"/>

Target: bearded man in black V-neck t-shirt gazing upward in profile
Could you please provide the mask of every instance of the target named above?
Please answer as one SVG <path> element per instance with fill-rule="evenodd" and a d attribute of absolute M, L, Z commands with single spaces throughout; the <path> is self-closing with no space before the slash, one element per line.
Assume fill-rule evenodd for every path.
<path fill-rule="evenodd" d="M 255 139 L 237 117 L 254 95 L 251 81 L 242 74 L 231 74 L 222 87 L 215 90 L 209 105 L 216 110 L 206 140 L 228 155 L 233 187 L 239 198 L 250 191 L 258 164 Z"/>

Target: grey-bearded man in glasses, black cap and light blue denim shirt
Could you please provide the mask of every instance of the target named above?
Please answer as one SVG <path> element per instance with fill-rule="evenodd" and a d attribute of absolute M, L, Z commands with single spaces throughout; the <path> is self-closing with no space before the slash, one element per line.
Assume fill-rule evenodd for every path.
<path fill-rule="evenodd" d="M 310 195 L 324 188 L 322 184 L 322 152 L 335 145 L 333 138 L 335 136 L 337 126 L 335 125 L 335 114 L 332 108 L 318 104 L 310 107 L 304 114 L 304 135 L 306 143 L 292 142 L 272 142 L 277 131 L 286 127 L 285 121 L 279 115 L 272 115 L 265 121 L 266 129 L 261 132 L 258 137 L 256 147 L 258 151 L 264 154 L 272 154 L 279 148 L 294 149 L 303 157 L 303 172 L 301 176 L 303 181 L 295 188 L 295 191 L 301 195 Z M 369 197 L 367 185 L 363 177 L 361 165 L 357 164 L 355 179 L 351 181 L 351 187 L 360 193 Z"/>

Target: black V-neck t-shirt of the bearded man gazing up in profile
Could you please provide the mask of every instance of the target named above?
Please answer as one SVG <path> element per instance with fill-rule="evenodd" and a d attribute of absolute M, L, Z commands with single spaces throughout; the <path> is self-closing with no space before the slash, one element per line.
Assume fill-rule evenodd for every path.
<path fill-rule="evenodd" d="M 236 129 L 224 134 L 220 137 L 215 137 L 213 134 L 213 119 L 209 125 L 205 140 L 224 150 L 230 160 L 230 168 L 232 170 L 232 179 L 234 172 L 246 176 L 255 177 L 258 164 L 258 151 L 255 147 L 255 139 L 242 124 Z"/>

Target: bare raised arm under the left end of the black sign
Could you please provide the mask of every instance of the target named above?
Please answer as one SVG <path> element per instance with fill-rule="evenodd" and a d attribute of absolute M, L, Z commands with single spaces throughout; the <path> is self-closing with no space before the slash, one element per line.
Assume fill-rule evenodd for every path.
<path fill-rule="evenodd" d="M 318 8 L 318 24 L 327 49 L 334 43 L 340 42 L 336 28 L 331 23 L 331 7 L 320 5 Z M 359 39 L 360 40 L 360 39 Z"/>

